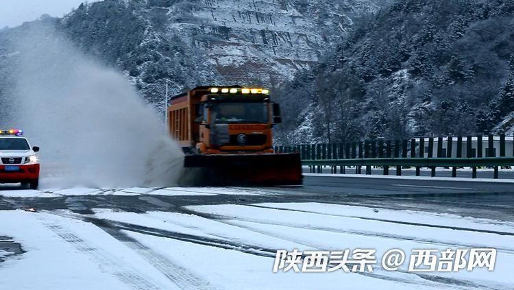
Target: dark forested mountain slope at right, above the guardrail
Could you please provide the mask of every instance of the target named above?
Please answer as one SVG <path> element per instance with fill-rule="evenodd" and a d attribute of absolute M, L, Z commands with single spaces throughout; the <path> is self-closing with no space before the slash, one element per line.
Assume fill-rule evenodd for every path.
<path fill-rule="evenodd" d="M 513 24 L 513 1 L 395 1 L 282 88 L 280 143 L 513 132 Z"/>

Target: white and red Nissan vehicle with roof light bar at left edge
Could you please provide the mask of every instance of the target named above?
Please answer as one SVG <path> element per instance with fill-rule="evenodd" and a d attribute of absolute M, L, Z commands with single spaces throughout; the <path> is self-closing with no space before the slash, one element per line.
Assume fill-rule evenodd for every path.
<path fill-rule="evenodd" d="M 30 147 L 23 130 L 0 130 L 0 183 L 39 186 L 39 147 Z"/>

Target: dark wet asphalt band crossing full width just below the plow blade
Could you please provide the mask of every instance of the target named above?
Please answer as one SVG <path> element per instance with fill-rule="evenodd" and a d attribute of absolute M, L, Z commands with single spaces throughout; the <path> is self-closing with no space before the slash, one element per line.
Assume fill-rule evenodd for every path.
<path fill-rule="evenodd" d="M 123 189 L 104 189 L 101 195 L 57 197 L 1 197 L 0 210 L 37 208 L 67 209 L 75 213 L 93 213 L 93 208 L 110 208 L 135 213 L 151 210 L 180 211 L 183 206 L 210 204 L 259 204 L 265 202 L 321 202 L 422 210 L 434 213 L 514 221 L 514 183 L 478 180 L 424 180 L 369 178 L 367 176 L 305 176 L 303 186 L 226 188 L 252 192 L 252 195 L 117 195 Z M 15 186 L 0 186 L 2 191 Z M 202 188 L 191 189 L 204 191 Z M 219 189 L 223 191 L 224 189 Z M 205 189 L 206 192 L 210 189 Z M 44 195 L 48 191 L 42 191 Z"/>

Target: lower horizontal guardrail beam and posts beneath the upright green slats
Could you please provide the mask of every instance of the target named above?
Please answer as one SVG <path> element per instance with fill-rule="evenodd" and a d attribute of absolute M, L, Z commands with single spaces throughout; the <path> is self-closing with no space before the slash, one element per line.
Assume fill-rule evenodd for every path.
<path fill-rule="evenodd" d="M 415 167 L 416 176 L 420 175 L 421 167 L 432 169 L 431 176 L 435 177 L 437 167 L 452 167 L 452 177 L 456 177 L 457 167 L 472 167 L 472 178 L 476 178 L 478 167 L 493 167 L 494 178 L 498 179 L 498 167 L 514 166 L 514 158 L 368 158 L 368 159 L 326 159 L 302 160 L 302 165 L 310 167 L 311 173 L 322 173 L 323 166 L 331 167 L 332 173 L 345 173 L 346 167 L 356 167 L 356 173 L 361 173 L 361 167 L 366 167 L 366 174 L 371 174 L 371 167 L 383 167 L 384 175 L 389 175 L 389 167 L 396 167 L 396 175 L 402 175 L 402 167 Z"/>

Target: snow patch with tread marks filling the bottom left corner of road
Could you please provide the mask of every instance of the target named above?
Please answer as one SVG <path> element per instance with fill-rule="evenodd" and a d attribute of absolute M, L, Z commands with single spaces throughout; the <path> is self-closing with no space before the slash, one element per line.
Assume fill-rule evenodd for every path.
<path fill-rule="evenodd" d="M 21 210 L 1 210 L 0 220 L 0 233 L 13 237 L 26 251 L 0 264 L 0 289 L 173 286 L 147 261 L 92 223 Z"/>

